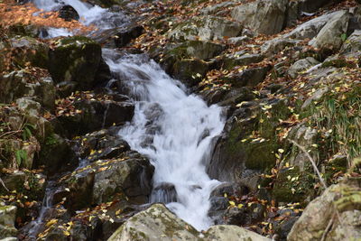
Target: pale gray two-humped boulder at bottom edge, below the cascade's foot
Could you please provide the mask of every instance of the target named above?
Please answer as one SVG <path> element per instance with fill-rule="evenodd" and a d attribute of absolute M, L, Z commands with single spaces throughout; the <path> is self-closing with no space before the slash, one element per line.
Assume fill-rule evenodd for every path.
<path fill-rule="evenodd" d="M 151 208 L 134 215 L 133 218 L 129 218 L 108 239 L 108 241 L 128 240 L 265 241 L 270 239 L 236 226 L 213 226 L 208 231 L 201 233 L 180 218 L 177 218 L 162 204 L 154 204 Z"/>

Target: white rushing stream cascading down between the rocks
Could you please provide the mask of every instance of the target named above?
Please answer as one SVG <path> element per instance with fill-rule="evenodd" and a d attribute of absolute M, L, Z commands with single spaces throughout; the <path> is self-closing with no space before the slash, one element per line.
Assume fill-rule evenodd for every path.
<path fill-rule="evenodd" d="M 124 14 L 110 13 L 79 0 L 62 2 L 77 10 L 83 23 L 96 23 L 100 29 L 112 28 L 127 19 Z M 44 11 L 61 5 L 56 0 L 34 3 Z M 50 33 L 51 37 L 71 34 L 60 29 Z M 176 192 L 176 198 L 170 200 L 166 191 L 153 190 L 151 201 L 167 203 L 178 217 L 199 230 L 207 229 L 212 225 L 208 218 L 209 194 L 219 182 L 209 179 L 205 163 L 214 138 L 225 124 L 221 108 L 208 107 L 200 97 L 188 95 L 179 81 L 171 79 L 145 55 L 119 56 L 114 50 L 103 49 L 103 57 L 134 99 L 133 121 L 119 135 L 152 161 L 154 190 L 166 186 Z"/>

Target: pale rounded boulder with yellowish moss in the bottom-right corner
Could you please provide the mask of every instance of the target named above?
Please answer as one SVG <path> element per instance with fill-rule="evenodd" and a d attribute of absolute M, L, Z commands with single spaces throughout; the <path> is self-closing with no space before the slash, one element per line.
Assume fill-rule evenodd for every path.
<path fill-rule="evenodd" d="M 360 194 L 356 183 L 330 186 L 310 202 L 287 240 L 316 240 L 322 236 L 325 240 L 360 238 Z"/>

